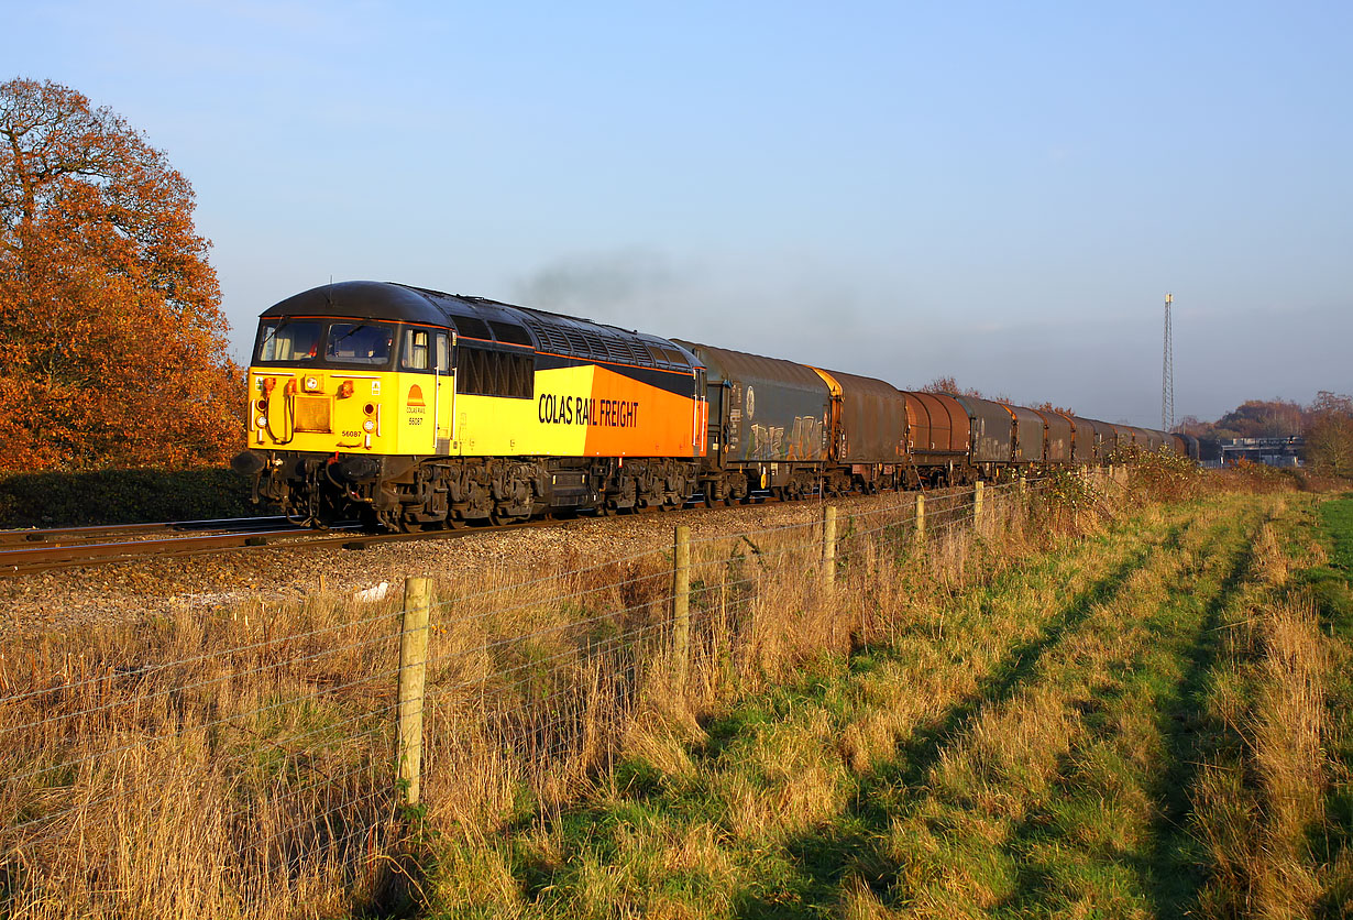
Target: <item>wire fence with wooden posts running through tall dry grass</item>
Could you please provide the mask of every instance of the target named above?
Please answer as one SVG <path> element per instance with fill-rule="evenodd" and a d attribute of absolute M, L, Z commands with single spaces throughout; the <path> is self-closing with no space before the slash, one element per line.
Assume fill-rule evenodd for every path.
<path fill-rule="evenodd" d="M 295 916 L 379 898 L 421 823 L 492 827 L 567 802 L 647 721 L 867 640 L 885 589 L 955 578 L 1027 526 L 1039 494 L 1022 479 L 839 520 L 678 528 L 671 545 L 559 572 L 410 579 L 403 599 L 30 652 L 31 681 L 0 697 L 0 915 Z"/>

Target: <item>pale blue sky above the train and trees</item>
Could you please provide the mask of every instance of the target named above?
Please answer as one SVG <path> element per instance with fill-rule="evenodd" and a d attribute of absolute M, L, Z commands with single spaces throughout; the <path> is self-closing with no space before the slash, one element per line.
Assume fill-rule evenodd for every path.
<path fill-rule="evenodd" d="M 5 3 L 192 181 L 239 357 L 333 280 L 1160 422 L 1353 391 L 1353 4 Z"/>

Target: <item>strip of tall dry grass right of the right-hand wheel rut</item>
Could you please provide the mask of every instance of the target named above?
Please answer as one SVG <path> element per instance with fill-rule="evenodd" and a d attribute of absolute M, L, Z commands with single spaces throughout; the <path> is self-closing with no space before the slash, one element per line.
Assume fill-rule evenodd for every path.
<path fill-rule="evenodd" d="M 1285 590 L 1292 547 L 1273 522 L 1260 532 L 1249 616 L 1229 630 L 1211 694 L 1227 736 L 1195 793 L 1197 832 L 1215 866 L 1206 916 L 1312 916 L 1325 875 L 1337 871 L 1311 851 L 1333 768 L 1333 645 L 1311 598 Z"/>

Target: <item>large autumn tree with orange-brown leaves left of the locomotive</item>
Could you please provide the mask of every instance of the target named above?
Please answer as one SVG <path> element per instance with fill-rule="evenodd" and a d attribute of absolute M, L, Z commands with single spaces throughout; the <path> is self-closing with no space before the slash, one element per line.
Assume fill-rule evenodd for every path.
<path fill-rule="evenodd" d="M 188 180 L 111 110 L 0 84 L 0 469 L 238 448 L 239 369 L 192 211 Z"/>

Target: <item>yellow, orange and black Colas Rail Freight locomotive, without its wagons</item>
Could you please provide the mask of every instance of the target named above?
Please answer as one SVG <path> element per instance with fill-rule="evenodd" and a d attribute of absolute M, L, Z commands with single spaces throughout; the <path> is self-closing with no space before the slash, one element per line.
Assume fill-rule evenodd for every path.
<path fill-rule="evenodd" d="M 373 281 L 267 310 L 235 469 L 298 521 L 399 530 L 681 505 L 704 368 L 641 333 Z"/>

